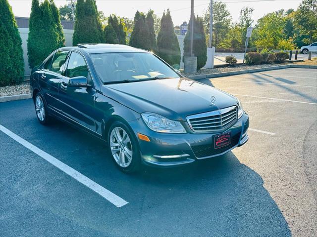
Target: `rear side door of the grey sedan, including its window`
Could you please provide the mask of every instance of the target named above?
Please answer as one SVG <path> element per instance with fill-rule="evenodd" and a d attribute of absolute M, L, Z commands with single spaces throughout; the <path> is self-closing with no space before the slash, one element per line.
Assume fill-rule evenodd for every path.
<path fill-rule="evenodd" d="M 45 62 L 38 75 L 39 85 L 48 108 L 54 112 L 60 112 L 60 108 L 58 108 L 58 84 L 68 52 L 57 51 Z"/>

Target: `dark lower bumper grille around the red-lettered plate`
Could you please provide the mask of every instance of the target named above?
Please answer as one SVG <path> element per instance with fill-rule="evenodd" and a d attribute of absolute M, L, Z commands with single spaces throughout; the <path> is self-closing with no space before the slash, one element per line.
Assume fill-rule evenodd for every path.
<path fill-rule="evenodd" d="M 231 137 L 231 144 L 223 146 L 218 149 L 213 148 L 213 143 L 208 145 L 198 145 L 198 146 L 192 146 L 192 150 L 197 158 L 203 158 L 203 157 L 211 157 L 217 154 L 221 154 L 230 148 L 233 148 L 236 146 L 239 142 L 241 132 L 233 135 Z"/>

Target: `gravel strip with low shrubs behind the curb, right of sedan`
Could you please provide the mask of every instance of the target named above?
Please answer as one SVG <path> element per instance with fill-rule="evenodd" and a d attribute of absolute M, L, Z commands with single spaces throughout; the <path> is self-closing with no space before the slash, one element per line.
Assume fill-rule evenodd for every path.
<path fill-rule="evenodd" d="M 234 67 L 224 67 L 224 68 L 214 68 L 214 69 L 209 68 L 209 69 L 201 69 L 197 71 L 197 73 L 195 74 L 186 74 L 182 72 L 182 75 L 185 77 L 189 77 L 189 76 L 205 75 L 205 74 L 212 74 L 212 73 L 225 73 L 225 72 L 256 69 L 256 68 L 267 68 L 267 67 L 281 66 L 281 65 L 286 65 L 286 63 L 261 64 L 261 65 L 254 65 L 254 66 L 234 66 Z"/>

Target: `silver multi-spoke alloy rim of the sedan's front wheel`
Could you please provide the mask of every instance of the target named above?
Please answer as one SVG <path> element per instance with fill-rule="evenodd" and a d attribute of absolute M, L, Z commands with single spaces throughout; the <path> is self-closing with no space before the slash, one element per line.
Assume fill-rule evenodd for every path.
<path fill-rule="evenodd" d="M 110 150 L 119 166 L 126 168 L 132 161 L 132 144 L 128 133 L 122 127 L 114 127 L 110 134 Z"/>

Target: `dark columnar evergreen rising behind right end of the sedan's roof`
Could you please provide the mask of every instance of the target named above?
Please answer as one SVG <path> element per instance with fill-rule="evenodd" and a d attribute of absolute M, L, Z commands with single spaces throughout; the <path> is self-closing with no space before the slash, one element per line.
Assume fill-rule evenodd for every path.
<path fill-rule="evenodd" d="M 150 31 L 143 12 L 137 11 L 134 16 L 134 27 L 130 37 L 130 46 L 151 50 Z"/>

